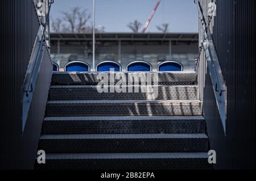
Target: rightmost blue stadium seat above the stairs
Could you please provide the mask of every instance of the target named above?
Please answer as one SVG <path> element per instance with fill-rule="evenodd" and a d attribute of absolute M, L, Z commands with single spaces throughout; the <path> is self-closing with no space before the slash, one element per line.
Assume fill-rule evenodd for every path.
<path fill-rule="evenodd" d="M 158 71 L 183 71 L 183 65 L 177 61 L 164 61 L 158 64 Z"/>

